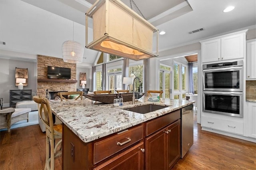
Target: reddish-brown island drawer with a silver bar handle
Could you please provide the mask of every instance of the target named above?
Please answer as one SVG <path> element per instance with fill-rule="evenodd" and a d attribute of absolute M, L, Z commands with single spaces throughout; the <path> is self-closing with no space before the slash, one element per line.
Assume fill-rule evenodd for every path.
<path fill-rule="evenodd" d="M 116 133 L 114 136 L 110 136 L 105 140 L 95 142 L 93 163 L 96 164 L 105 158 L 108 158 L 120 150 L 142 140 L 142 138 L 143 125 L 139 125 L 137 127 Z"/>

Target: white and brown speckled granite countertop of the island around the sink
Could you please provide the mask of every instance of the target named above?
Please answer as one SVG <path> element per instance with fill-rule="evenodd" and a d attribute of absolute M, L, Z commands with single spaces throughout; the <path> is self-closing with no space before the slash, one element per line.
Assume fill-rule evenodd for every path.
<path fill-rule="evenodd" d="M 168 107 L 146 114 L 123 110 L 149 103 Z M 124 102 L 124 105 L 119 107 L 114 107 L 113 104 L 102 104 L 90 99 L 63 102 L 52 101 L 50 105 L 54 115 L 82 141 L 91 142 L 193 103 L 195 102 L 176 99 L 161 99 L 160 102 L 149 102 L 147 97 L 142 97 L 134 105 L 132 105 L 132 101 L 129 101 Z"/>

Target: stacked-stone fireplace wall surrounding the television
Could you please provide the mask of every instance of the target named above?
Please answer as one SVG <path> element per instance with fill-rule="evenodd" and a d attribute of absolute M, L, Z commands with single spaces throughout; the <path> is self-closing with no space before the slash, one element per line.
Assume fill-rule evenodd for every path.
<path fill-rule="evenodd" d="M 71 68 L 71 79 L 48 79 L 47 66 Z M 46 97 L 46 89 L 49 92 L 76 91 L 76 64 L 65 63 L 63 59 L 38 55 L 37 57 L 37 95 Z M 53 93 L 54 97 L 55 93 Z"/>

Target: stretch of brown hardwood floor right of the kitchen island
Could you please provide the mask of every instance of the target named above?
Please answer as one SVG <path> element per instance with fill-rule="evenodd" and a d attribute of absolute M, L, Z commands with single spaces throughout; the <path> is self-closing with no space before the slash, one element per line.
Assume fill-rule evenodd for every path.
<path fill-rule="evenodd" d="M 194 144 L 173 169 L 255 170 L 256 143 L 201 130 L 194 121 Z"/>

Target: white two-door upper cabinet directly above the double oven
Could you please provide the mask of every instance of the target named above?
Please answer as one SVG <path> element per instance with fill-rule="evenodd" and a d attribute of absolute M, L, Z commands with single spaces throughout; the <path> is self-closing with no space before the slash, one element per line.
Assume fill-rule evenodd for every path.
<path fill-rule="evenodd" d="M 244 58 L 246 31 L 201 41 L 202 62 Z"/>

